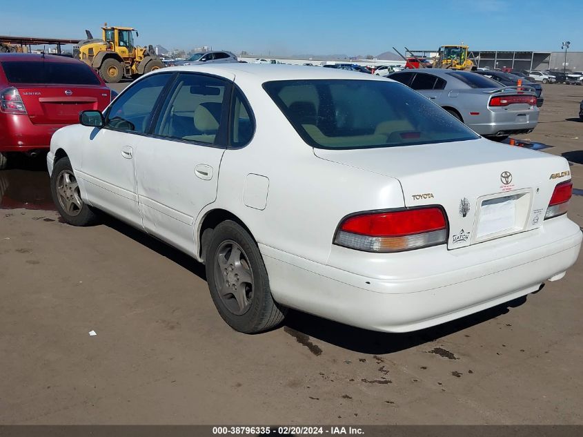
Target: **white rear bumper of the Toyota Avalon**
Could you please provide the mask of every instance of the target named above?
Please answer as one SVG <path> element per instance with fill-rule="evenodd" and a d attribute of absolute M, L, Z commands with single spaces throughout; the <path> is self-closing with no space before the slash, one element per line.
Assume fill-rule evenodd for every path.
<path fill-rule="evenodd" d="M 382 254 L 335 246 L 331 259 L 362 256 L 377 270 L 370 275 L 261 244 L 260 249 L 273 296 L 281 304 L 364 329 L 407 332 L 494 307 L 537 291 L 545 280 L 560 279 L 577 260 L 582 237 L 579 226 L 562 216 L 504 242 L 453 251 L 435 246 L 418 251 L 417 257 L 415 251 L 400 254 L 402 260 L 392 256 L 388 264 L 371 261 Z M 358 270 L 359 262 L 353 264 Z M 379 265 L 388 269 L 384 277 L 379 277 Z"/>

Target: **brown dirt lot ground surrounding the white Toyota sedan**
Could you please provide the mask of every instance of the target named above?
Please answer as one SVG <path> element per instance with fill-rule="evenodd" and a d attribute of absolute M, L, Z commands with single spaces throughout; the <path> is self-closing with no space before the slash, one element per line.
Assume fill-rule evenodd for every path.
<path fill-rule="evenodd" d="M 544 95 L 521 138 L 568 157 L 583 188 L 583 87 Z M 294 312 L 246 336 L 200 264 L 112 218 L 61 223 L 42 162 L 15 165 L 0 176 L 1 424 L 583 424 L 583 257 L 528 298 L 416 333 Z M 583 225 L 583 197 L 569 216 Z"/>

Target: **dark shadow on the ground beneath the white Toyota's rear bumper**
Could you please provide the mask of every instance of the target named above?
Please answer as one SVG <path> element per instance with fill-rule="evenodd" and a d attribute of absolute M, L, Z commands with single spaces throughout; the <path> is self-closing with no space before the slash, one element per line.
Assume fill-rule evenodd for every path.
<path fill-rule="evenodd" d="M 544 287 L 544 284 L 541 286 L 541 289 L 542 287 Z M 519 307 L 524 302 L 526 302 L 526 296 L 497 305 L 491 309 L 480 311 L 479 313 L 468 315 L 464 318 L 453 320 L 452 322 L 439 324 L 436 327 L 411 333 L 368 331 L 366 329 L 349 327 L 346 324 L 333 322 L 300 311 L 290 311 L 284 321 L 284 330 L 301 343 L 313 338 L 354 352 L 382 355 L 410 349 L 411 347 L 419 346 L 419 344 L 432 342 L 453 333 L 463 331 L 476 324 L 506 314 L 511 308 Z"/>

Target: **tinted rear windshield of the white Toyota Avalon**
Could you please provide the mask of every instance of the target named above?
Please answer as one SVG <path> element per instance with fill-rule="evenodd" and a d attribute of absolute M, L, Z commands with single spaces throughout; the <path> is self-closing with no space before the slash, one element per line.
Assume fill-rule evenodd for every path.
<path fill-rule="evenodd" d="M 380 148 L 478 136 L 402 84 L 358 79 L 271 81 L 264 89 L 316 148 Z"/>

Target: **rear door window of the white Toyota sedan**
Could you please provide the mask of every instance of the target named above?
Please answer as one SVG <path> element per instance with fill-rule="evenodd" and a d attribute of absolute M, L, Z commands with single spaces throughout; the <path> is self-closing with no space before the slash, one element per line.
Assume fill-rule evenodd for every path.
<path fill-rule="evenodd" d="M 160 111 L 154 135 L 206 144 L 222 143 L 224 101 L 230 95 L 228 81 L 192 73 L 180 74 Z"/>

